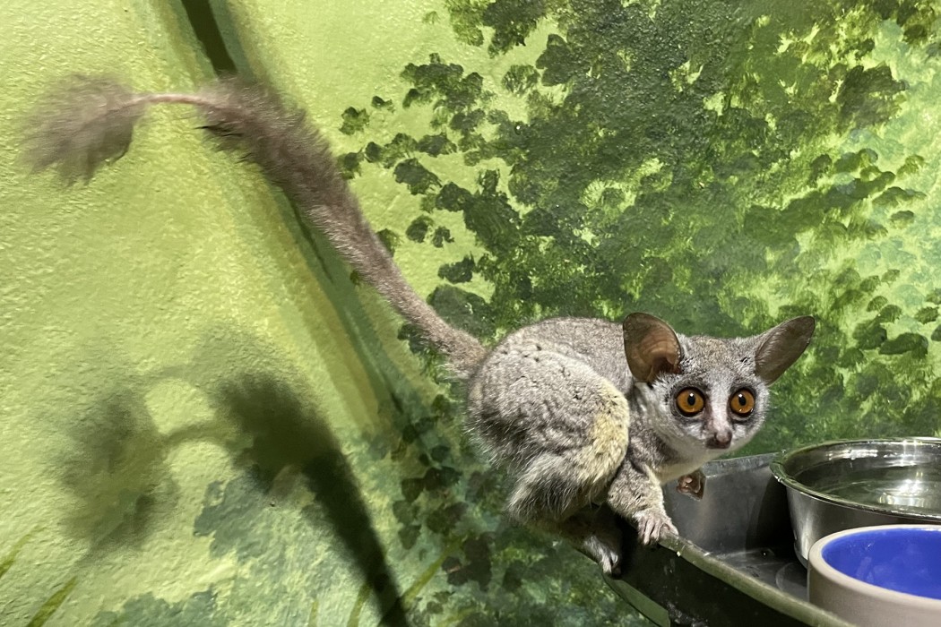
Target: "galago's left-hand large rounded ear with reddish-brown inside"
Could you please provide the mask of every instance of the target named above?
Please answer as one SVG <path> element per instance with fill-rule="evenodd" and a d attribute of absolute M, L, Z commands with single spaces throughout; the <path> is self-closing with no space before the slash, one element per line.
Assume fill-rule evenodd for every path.
<path fill-rule="evenodd" d="M 663 372 L 679 372 L 679 339 L 669 324 L 644 313 L 624 319 L 624 353 L 630 374 L 651 383 Z"/>

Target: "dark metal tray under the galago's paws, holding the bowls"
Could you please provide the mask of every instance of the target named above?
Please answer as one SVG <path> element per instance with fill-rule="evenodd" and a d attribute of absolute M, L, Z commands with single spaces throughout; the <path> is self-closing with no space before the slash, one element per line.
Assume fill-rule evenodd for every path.
<path fill-rule="evenodd" d="M 806 571 L 794 554 L 787 494 L 768 468 L 773 454 L 710 462 L 701 501 L 664 491 L 679 538 L 640 546 L 609 586 L 662 626 L 850 623 L 806 600 Z"/>

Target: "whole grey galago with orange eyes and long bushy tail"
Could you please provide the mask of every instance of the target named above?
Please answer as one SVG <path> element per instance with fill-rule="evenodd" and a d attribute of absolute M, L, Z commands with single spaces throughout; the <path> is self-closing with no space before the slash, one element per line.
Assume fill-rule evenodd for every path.
<path fill-rule="evenodd" d="M 804 352 L 809 317 L 755 337 L 678 335 L 653 316 L 623 325 L 559 318 L 519 329 L 492 349 L 443 321 L 412 290 L 376 237 L 319 133 L 262 89 L 220 81 L 194 94 L 136 94 L 102 78 L 75 77 L 37 109 L 26 158 L 67 180 L 90 179 L 128 149 L 147 107 L 196 107 L 224 149 L 247 153 L 349 264 L 443 353 L 466 381 L 470 431 L 513 479 L 507 509 L 549 529 L 617 573 L 618 525 L 644 543 L 675 534 L 662 484 L 701 495 L 704 462 L 755 435 L 768 387 Z"/>

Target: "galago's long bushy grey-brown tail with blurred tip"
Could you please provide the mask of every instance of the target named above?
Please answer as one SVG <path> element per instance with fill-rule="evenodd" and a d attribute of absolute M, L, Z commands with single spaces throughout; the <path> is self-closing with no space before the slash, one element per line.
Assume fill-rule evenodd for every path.
<path fill-rule="evenodd" d="M 223 149 L 260 165 L 357 273 L 444 353 L 456 375 L 469 375 L 483 359 L 476 338 L 443 321 L 407 284 L 303 112 L 262 88 L 223 80 L 191 94 L 135 93 L 109 78 L 72 77 L 30 119 L 24 156 L 34 170 L 56 167 L 70 183 L 89 180 L 124 154 L 136 122 L 160 103 L 195 107 Z"/>

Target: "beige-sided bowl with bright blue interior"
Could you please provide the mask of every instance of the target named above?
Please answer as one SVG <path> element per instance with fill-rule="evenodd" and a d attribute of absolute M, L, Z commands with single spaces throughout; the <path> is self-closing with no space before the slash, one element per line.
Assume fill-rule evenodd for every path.
<path fill-rule="evenodd" d="M 941 525 L 831 534 L 807 559 L 810 602 L 858 625 L 941 625 Z"/>

